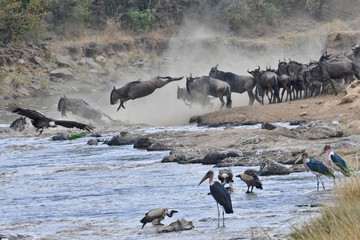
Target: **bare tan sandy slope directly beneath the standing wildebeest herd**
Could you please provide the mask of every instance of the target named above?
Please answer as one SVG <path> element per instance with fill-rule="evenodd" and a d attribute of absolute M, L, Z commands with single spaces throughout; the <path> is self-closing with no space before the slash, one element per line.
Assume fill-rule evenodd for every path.
<path fill-rule="evenodd" d="M 338 121 L 345 134 L 360 133 L 360 81 L 345 92 L 268 105 L 236 107 L 199 116 L 204 124 L 279 122 L 297 120 Z"/>

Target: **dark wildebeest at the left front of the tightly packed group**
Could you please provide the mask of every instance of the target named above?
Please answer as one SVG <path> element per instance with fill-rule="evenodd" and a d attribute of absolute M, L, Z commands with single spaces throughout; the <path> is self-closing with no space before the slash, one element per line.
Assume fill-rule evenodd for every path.
<path fill-rule="evenodd" d="M 268 97 L 269 103 L 280 102 L 279 97 L 279 76 L 273 71 L 260 71 L 260 66 L 254 71 L 247 70 L 256 80 L 256 94 L 261 96 L 261 104 L 264 104 L 264 96 Z M 270 93 L 270 96 L 269 96 Z"/>

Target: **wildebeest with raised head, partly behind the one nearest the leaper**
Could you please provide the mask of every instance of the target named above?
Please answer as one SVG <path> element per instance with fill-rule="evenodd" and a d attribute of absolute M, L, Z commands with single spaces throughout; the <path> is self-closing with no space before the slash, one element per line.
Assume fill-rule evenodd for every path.
<path fill-rule="evenodd" d="M 255 95 L 253 89 L 256 86 L 255 79 L 252 76 L 236 75 L 232 72 L 223 72 L 218 70 L 218 64 L 212 67 L 209 76 L 220 79 L 230 85 L 231 92 L 244 93 L 249 95 L 249 105 L 254 104 Z"/>

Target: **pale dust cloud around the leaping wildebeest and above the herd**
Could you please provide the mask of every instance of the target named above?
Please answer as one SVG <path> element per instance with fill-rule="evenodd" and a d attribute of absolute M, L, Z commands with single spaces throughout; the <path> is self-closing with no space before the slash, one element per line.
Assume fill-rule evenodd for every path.
<path fill-rule="evenodd" d="M 101 110 L 114 119 L 126 124 L 182 125 L 189 122 L 194 115 L 220 110 L 219 99 L 211 100 L 212 107 L 203 108 L 193 104 L 185 105 L 177 99 L 177 87 L 185 87 L 186 76 L 208 75 L 211 67 L 218 64 L 218 69 L 239 75 L 249 75 L 247 69 L 253 70 L 259 65 L 277 68 L 279 60 L 296 60 L 308 63 L 317 60 L 324 47 L 325 38 L 331 31 L 344 29 L 339 23 L 311 30 L 287 32 L 281 36 L 246 39 L 225 36 L 213 32 L 206 24 L 193 19 L 185 19 L 180 31 L 170 41 L 168 49 L 161 56 L 148 59 L 147 69 L 137 69 L 116 82 L 116 88 L 135 80 L 150 80 L 156 76 L 184 76 L 180 81 L 171 82 L 155 90 L 151 95 L 125 102 L 126 109 L 116 112 L 118 105 L 109 104 L 109 92 L 103 93 L 101 99 L 91 97 L 89 103 L 101 104 Z M 232 93 L 232 107 L 248 104 L 247 93 Z M 258 104 L 258 103 L 255 103 Z"/>

